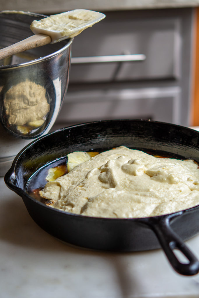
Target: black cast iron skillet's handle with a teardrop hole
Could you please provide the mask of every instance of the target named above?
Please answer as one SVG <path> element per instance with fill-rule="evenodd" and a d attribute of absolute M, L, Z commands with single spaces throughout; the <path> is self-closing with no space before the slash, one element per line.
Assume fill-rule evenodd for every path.
<path fill-rule="evenodd" d="M 194 275 L 199 272 L 199 261 L 195 255 L 188 249 L 182 240 L 172 231 L 170 220 L 172 216 L 164 216 L 156 220 L 153 218 L 150 222 L 151 228 L 155 232 L 163 251 L 166 254 L 171 266 L 176 272 L 182 275 Z M 181 263 L 175 255 L 174 249 L 179 250 L 186 261 Z"/>

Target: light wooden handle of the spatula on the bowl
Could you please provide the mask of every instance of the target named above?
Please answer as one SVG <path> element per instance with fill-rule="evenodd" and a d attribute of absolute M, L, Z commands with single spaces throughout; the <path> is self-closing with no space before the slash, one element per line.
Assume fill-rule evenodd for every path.
<path fill-rule="evenodd" d="M 24 52 L 29 49 L 34 49 L 38 46 L 44 46 L 50 44 L 51 37 L 44 34 L 35 34 L 22 41 L 0 49 L 0 60 L 12 56 L 14 54 Z"/>

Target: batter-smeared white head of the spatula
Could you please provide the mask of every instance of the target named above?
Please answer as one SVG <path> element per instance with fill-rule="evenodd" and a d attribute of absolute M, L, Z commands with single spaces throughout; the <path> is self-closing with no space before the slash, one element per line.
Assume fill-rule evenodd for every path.
<path fill-rule="evenodd" d="M 104 13 L 87 9 L 75 9 L 57 15 L 50 15 L 39 21 L 33 21 L 30 29 L 34 34 L 45 34 L 51 37 L 51 43 L 80 34 L 105 18 Z"/>

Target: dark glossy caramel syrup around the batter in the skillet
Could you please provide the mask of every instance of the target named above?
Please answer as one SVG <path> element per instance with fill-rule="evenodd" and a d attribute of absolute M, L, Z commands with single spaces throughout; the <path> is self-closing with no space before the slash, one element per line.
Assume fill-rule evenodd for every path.
<path fill-rule="evenodd" d="M 113 149 L 113 148 L 108 148 L 108 149 L 104 149 L 104 150 L 93 150 L 93 151 L 97 151 L 97 152 L 103 152 L 109 149 Z M 180 156 L 177 155 L 175 153 L 169 153 L 169 152 L 165 152 L 165 151 L 158 151 L 158 150 L 144 150 L 141 148 L 132 148 L 132 149 L 136 149 L 136 150 L 141 150 L 144 151 L 148 154 L 151 154 L 153 156 L 156 157 L 163 157 L 163 158 L 175 158 L 175 159 L 188 159 L 184 156 Z M 92 150 L 89 150 L 89 152 L 91 152 Z M 197 162 L 198 164 L 198 162 Z M 62 157 L 61 159 L 58 159 L 56 161 L 53 161 L 51 163 L 48 163 L 46 166 L 42 167 L 41 169 L 39 169 L 28 181 L 27 183 L 27 187 L 26 187 L 26 192 L 33 198 L 35 198 L 36 200 L 46 204 L 46 205 L 50 205 L 52 204 L 51 201 L 44 199 L 40 196 L 39 191 L 42 190 L 45 186 L 45 184 L 47 183 L 46 177 L 48 174 L 48 170 L 52 167 L 57 167 L 58 171 L 61 169 L 61 171 L 63 172 L 63 175 L 67 174 L 67 156 Z"/>

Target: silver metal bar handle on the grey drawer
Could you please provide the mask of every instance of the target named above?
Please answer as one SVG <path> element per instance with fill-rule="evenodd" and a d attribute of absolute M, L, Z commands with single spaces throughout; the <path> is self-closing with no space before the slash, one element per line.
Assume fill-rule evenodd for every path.
<path fill-rule="evenodd" d="M 72 64 L 144 61 L 144 54 L 72 57 Z"/>

